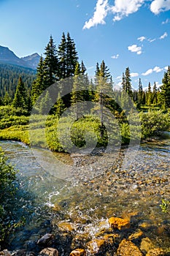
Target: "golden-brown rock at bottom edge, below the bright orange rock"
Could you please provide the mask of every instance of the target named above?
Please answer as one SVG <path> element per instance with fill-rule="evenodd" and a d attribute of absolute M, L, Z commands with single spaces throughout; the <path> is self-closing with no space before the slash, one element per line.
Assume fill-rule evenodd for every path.
<path fill-rule="evenodd" d="M 143 254 L 139 250 L 139 248 L 134 243 L 126 239 L 123 239 L 123 241 L 121 241 L 117 249 L 117 256 L 142 256 L 142 255 Z"/>

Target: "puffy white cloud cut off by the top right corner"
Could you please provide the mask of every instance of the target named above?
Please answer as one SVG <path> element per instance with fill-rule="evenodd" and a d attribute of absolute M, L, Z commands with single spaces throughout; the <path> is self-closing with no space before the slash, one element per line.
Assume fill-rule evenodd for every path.
<path fill-rule="evenodd" d="M 150 4 L 150 10 L 154 14 L 170 10 L 170 0 L 154 0 Z"/>

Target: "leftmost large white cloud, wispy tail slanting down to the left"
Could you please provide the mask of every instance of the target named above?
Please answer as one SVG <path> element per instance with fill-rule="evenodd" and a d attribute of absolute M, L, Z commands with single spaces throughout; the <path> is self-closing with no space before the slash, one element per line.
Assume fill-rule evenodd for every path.
<path fill-rule="evenodd" d="M 98 24 L 105 24 L 104 18 L 107 17 L 108 7 L 108 0 L 98 0 L 93 18 L 90 18 L 90 20 L 85 22 L 83 29 L 90 29 Z"/>

